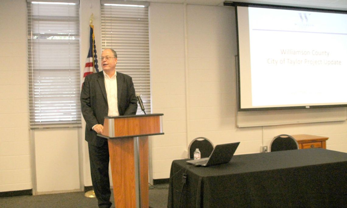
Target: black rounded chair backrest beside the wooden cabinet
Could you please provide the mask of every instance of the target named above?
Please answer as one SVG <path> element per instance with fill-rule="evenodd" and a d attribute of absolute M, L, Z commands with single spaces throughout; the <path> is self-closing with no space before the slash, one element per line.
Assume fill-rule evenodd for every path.
<path fill-rule="evenodd" d="M 275 136 L 270 144 L 270 152 L 299 149 L 298 142 L 288 134 Z"/>

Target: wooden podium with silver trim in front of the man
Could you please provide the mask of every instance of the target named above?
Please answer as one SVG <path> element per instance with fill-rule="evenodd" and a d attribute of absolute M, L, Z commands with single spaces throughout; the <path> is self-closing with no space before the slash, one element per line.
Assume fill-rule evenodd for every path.
<path fill-rule="evenodd" d="M 117 208 L 149 207 L 148 136 L 164 134 L 163 114 L 105 117 Z"/>

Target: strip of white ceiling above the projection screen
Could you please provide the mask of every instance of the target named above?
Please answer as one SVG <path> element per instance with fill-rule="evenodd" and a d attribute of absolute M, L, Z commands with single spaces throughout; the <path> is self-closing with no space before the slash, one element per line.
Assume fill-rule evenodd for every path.
<path fill-rule="evenodd" d="M 135 1 L 149 1 L 149 2 L 157 2 L 157 3 L 178 3 L 178 4 L 187 3 L 188 5 L 223 6 L 223 2 L 225 0 L 135 0 Z M 228 2 L 232 2 L 232 0 L 229 0 Z M 235 2 L 347 10 L 347 0 L 236 0 Z"/>

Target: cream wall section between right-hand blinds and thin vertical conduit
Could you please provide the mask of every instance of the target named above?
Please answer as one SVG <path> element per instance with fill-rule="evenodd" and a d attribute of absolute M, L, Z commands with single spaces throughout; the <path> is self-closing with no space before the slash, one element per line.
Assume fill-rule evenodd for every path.
<path fill-rule="evenodd" d="M 153 178 L 168 178 L 172 159 L 186 151 L 184 7 L 151 3 L 150 68 L 152 112 L 164 113 L 165 135 L 152 136 Z"/>

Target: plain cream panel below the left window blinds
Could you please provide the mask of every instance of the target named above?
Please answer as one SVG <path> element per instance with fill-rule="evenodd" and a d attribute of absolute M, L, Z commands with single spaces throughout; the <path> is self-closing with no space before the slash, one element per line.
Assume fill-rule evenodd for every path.
<path fill-rule="evenodd" d="M 80 190 L 76 128 L 34 131 L 37 194 Z"/>

